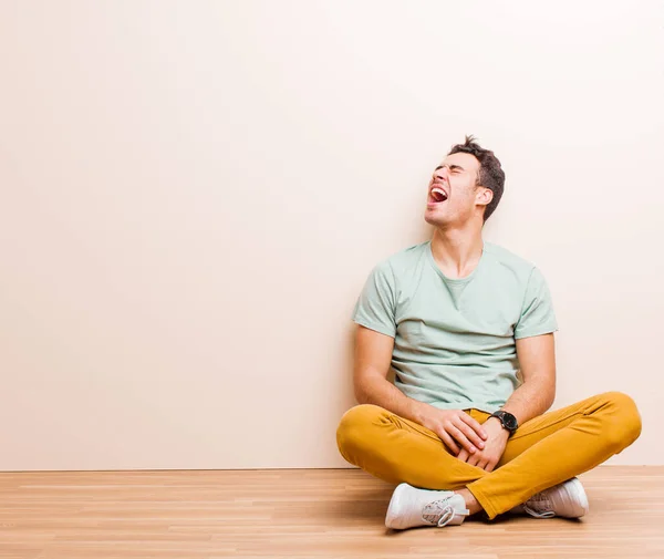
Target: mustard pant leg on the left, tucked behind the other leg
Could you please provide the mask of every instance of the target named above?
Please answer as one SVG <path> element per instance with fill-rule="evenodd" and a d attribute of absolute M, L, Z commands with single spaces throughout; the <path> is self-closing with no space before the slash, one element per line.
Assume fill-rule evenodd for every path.
<path fill-rule="evenodd" d="M 433 431 L 372 404 L 343 415 L 336 444 L 347 462 L 393 484 L 461 489 L 489 475 L 450 454 Z"/>

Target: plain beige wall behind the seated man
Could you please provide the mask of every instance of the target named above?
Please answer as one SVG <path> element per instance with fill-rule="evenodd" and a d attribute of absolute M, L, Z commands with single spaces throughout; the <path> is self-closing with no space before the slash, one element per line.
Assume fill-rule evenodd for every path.
<path fill-rule="evenodd" d="M 662 464 L 662 2 L 0 2 L 0 469 L 342 466 L 350 313 L 465 133 L 556 406 Z M 601 6 L 601 9 L 600 9 Z"/>

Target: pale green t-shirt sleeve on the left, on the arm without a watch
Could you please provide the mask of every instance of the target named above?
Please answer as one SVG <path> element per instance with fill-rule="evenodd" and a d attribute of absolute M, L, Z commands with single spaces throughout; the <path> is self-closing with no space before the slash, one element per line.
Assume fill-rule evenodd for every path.
<path fill-rule="evenodd" d="M 376 266 L 369 275 L 355 303 L 353 321 L 382 334 L 396 335 L 396 281 L 388 262 Z"/>

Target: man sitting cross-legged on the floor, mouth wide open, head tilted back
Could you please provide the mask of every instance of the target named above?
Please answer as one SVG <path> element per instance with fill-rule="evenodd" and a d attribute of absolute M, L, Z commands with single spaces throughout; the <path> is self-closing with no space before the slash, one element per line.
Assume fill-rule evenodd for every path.
<path fill-rule="evenodd" d="M 428 185 L 432 240 L 376 266 L 355 306 L 361 405 L 342 417 L 338 445 L 400 484 L 388 528 L 460 525 L 477 513 L 581 517 L 575 476 L 641 434 L 620 392 L 544 413 L 558 329 L 547 283 L 481 236 L 504 184 L 492 152 L 471 136 L 455 145 Z"/>

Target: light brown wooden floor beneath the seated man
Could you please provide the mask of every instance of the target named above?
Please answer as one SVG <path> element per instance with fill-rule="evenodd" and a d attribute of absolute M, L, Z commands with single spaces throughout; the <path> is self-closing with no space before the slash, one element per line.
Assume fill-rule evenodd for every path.
<path fill-rule="evenodd" d="M 664 558 L 664 466 L 581 476 L 581 520 L 384 528 L 360 470 L 0 474 L 0 558 Z"/>

